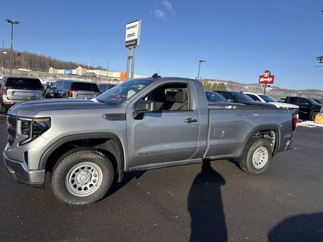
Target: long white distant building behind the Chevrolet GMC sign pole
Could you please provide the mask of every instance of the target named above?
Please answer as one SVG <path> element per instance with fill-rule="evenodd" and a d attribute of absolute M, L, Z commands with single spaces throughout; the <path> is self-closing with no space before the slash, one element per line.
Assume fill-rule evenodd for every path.
<path fill-rule="evenodd" d="M 109 78 L 114 78 L 114 79 L 124 79 L 125 73 L 123 72 L 107 72 L 107 71 L 102 71 L 102 70 L 87 70 L 86 68 L 78 67 L 74 70 L 58 70 L 54 69 L 52 67 L 49 68 L 48 73 L 50 74 L 62 74 L 62 75 L 67 75 L 67 73 L 71 73 L 74 75 L 82 76 L 82 75 L 90 75 L 90 76 L 96 76 L 96 77 L 109 77 Z M 141 78 L 141 77 L 146 77 L 142 75 L 137 75 L 134 74 L 134 78 Z"/>

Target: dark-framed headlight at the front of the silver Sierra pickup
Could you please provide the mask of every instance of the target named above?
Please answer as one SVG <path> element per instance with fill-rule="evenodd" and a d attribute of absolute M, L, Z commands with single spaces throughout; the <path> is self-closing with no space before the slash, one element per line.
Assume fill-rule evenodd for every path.
<path fill-rule="evenodd" d="M 25 144 L 43 134 L 50 128 L 50 124 L 50 117 L 18 117 L 17 133 L 19 136 L 19 145 Z"/>

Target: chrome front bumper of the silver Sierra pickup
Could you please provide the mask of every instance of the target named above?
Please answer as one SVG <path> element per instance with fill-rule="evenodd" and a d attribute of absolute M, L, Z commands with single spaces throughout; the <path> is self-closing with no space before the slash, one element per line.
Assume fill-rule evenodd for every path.
<path fill-rule="evenodd" d="M 45 170 L 29 170 L 24 162 L 11 160 L 3 153 L 5 165 L 11 178 L 17 183 L 44 190 Z"/>

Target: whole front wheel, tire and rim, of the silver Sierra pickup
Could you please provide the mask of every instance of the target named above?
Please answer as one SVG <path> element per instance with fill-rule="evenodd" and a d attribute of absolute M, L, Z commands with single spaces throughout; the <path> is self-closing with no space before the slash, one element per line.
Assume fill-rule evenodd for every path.
<path fill-rule="evenodd" d="M 70 206 L 90 205 L 101 200 L 114 179 L 111 161 L 90 147 L 64 154 L 52 170 L 50 186 L 56 198 Z"/>

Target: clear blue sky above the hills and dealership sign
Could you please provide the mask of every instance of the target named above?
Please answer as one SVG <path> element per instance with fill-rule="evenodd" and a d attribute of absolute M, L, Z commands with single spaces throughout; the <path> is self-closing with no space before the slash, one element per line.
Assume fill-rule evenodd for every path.
<path fill-rule="evenodd" d="M 14 48 L 125 71 L 125 24 L 141 19 L 135 73 L 257 83 L 266 69 L 275 85 L 323 89 L 323 4 L 314 0 L 5 1 L 0 40 L 10 46 L 7 18 L 20 21 Z"/>

